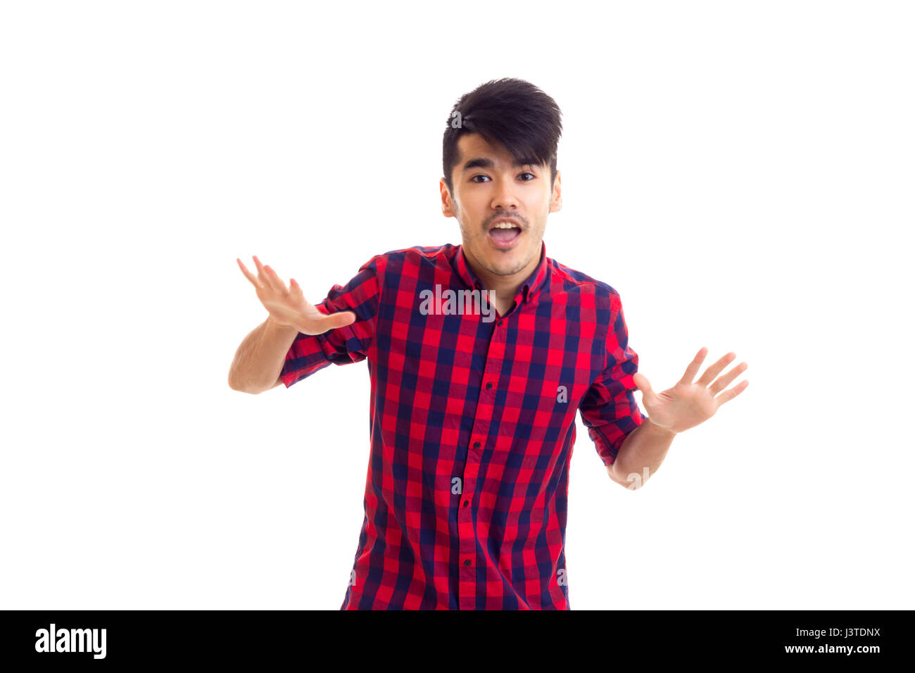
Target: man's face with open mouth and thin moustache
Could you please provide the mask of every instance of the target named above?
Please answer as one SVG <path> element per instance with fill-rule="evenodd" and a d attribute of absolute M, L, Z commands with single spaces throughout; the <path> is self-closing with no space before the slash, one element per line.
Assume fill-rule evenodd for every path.
<path fill-rule="evenodd" d="M 472 266 L 496 276 L 528 277 L 540 261 L 546 218 L 562 208 L 559 171 L 550 189 L 550 167 L 514 165 L 505 147 L 479 134 L 458 139 L 458 164 L 451 171 L 454 194 L 441 179 L 442 212 L 460 224 L 464 254 Z M 515 228 L 501 229 L 503 219 Z"/>

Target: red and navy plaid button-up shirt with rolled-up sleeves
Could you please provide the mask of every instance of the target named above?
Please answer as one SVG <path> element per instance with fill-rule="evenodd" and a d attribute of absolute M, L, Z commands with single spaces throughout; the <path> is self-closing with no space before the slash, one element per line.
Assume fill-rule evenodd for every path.
<path fill-rule="evenodd" d="M 461 247 L 375 255 L 316 305 L 356 321 L 299 333 L 286 354 L 286 387 L 368 362 L 365 520 L 343 610 L 569 609 L 576 410 L 605 465 L 645 418 L 616 290 L 544 244 L 506 316 L 469 301 L 452 314 L 447 289 L 483 289 Z M 430 295 L 443 303 L 424 310 Z"/>

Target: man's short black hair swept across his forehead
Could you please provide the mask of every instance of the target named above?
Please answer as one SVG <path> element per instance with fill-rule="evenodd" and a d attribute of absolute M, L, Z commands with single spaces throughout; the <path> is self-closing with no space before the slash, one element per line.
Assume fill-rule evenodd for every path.
<path fill-rule="evenodd" d="M 451 171 L 458 163 L 458 138 L 479 133 L 501 143 L 515 160 L 550 167 L 550 189 L 556 177 L 556 147 L 563 133 L 556 102 L 529 81 L 490 80 L 458 99 L 448 114 L 442 140 L 445 184 L 453 196 Z"/>

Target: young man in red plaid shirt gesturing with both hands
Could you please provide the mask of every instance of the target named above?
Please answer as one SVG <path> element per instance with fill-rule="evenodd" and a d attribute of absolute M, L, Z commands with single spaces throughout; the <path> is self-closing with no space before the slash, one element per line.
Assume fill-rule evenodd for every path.
<path fill-rule="evenodd" d="M 694 382 L 703 348 L 654 393 L 616 290 L 546 256 L 561 132 L 544 92 L 487 82 L 445 130 L 442 213 L 462 244 L 375 255 L 316 306 L 256 256 L 256 276 L 237 260 L 269 315 L 235 354 L 233 389 L 368 361 L 365 520 L 342 609 L 568 609 L 576 411 L 610 479 L 632 488 L 748 385 L 726 390 L 746 364 L 718 376 L 733 353 Z"/>

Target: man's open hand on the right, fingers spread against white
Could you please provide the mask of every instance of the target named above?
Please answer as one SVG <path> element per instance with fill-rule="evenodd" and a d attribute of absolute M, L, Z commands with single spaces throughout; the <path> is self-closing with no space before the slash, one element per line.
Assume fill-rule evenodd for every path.
<path fill-rule="evenodd" d="M 725 388 L 747 369 L 747 363 L 741 363 L 727 374 L 718 376 L 727 364 L 734 360 L 734 353 L 727 353 L 715 364 L 710 365 L 702 377 L 694 382 L 693 379 L 699 372 L 706 353 L 705 348 L 696 353 L 683 378 L 672 388 L 661 393 L 655 393 L 651 389 L 651 384 L 644 374 L 635 374 L 635 384 L 639 386 L 642 394 L 642 405 L 652 423 L 673 432 L 694 428 L 712 418 L 718 407 L 746 390 L 748 381 L 743 381 L 728 390 Z"/>

